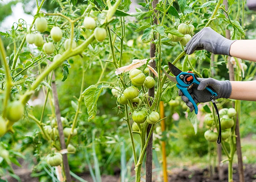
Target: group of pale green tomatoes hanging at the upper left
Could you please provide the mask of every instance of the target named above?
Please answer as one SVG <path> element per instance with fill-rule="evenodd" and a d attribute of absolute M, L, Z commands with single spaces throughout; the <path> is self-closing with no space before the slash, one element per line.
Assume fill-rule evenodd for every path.
<path fill-rule="evenodd" d="M 83 25 L 86 29 L 94 30 L 95 39 L 98 41 L 103 41 L 106 39 L 107 32 L 105 28 L 96 27 L 96 22 L 92 17 L 85 17 L 83 21 Z M 42 50 L 45 54 L 50 55 L 54 52 L 54 44 L 51 41 L 44 43 L 43 36 L 41 33 L 45 32 L 48 27 L 47 20 L 45 17 L 38 17 L 35 20 L 35 28 L 38 33 L 29 32 L 26 35 L 26 41 L 29 44 L 35 44 L 37 47 L 42 47 Z M 96 27 L 96 28 L 95 28 Z M 63 37 L 63 32 L 60 27 L 54 26 L 50 30 L 50 37 L 54 42 L 59 42 Z M 64 41 L 64 50 L 69 50 L 71 46 L 72 49 L 76 48 L 75 40 L 66 39 Z M 61 55 L 57 54 L 54 56 L 53 61 L 57 60 Z"/>

